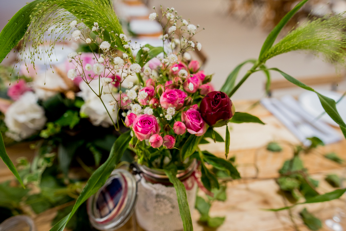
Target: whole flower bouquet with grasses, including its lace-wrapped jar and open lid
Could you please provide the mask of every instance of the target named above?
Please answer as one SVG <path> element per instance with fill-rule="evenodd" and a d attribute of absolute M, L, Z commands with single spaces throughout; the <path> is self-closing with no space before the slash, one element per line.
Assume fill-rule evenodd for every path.
<path fill-rule="evenodd" d="M 11 41 L 4 46 L 0 57 L 5 57 L 22 39 L 24 44 L 28 44 L 29 54 L 34 59 L 39 53 L 38 46 L 45 42 L 46 31 L 53 38 L 47 49 L 50 56 L 55 43 L 69 38 L 82 40 L 90 46 L 96 44 L 98 52 L 93 52 L 91 63 L 85 62 L 83 53 L 72 52 L 68 55 L 74 66 L 67 71 L 67 77 L 73 81 L 81 79 L 80 84 L 102 102 L 117 130 L 120 130 L 122 119 L 125 126 L 130 128 L 121 132 L 109 157 L 92 173 L 71 212 L 57 222 L 52 230 L 63 230 L 88 198 L 90 222 L 98 229 L 114 230 L 136 210 L 139 224 L 146 230 L 193 230 L 190 209 L 194 204 L 197 185 L 209 195 L 212 195 L 213 189 L 219 188 L 211 166 L 233 179 L 240 177 L 231 161 L 227 160 L 231 142 L 227 124 L 263 123 L 253 115 L 235 112 L 230 97 L 244 81 L 252 73 L 263 71 L 269 84 L 269 71 L 272 70 L 281 73 L 288 81 L 315 92 L 277 68 L 268 69 L 265 62 L 292 50 L 322 53 L 327 61 L 344 62 L 345 19 L 341 15 L 311 20 L 273 45 L 280 30 L 306 1 L 298 3 L 273 29 L 258 59 L 245 61 L 229 74 L 221 91 L 213 90 L 210 84 L 212 76 L 205 75 L 198 62 L 191 60 L 188 53 L 201 49 L 202 45 L 193 40 L 199 26 L 184 20 L 173 8 L 161 8 L 160 14 L 155 11 L 149 16 L 149 20 L 158 20 L 163 25 L 162 47 L 136 47 L 136 43 L 123 34 L 109 1 L 36 0 L 21 9 L 0 33 L 1 41 Z M 21 18 L 23 14 L 25 17 Z M 163 23 L 164 17 L 167 18 L 166 23 Z M 21 18 L 22 30 L 12 33 L 11 25 L 18 18 Z M 22 54 L 23 50 L 20 51 Z M 253 67 L 235 85 L 237 74 L 246 63 L 253 63 Z M 316 93 L 326 112 L 346 135 L 346 124 L 336 110 L 335 101 Z M 109 98 L 103 99 L 104 95 Z M 112 110 L 107 108 L 109 106 Z M 117 120 L 112 118 L 111 112 L 116 112 Z M 221 126 L 226 126 L 226 159 L 198 147 L 208 142 L 205 138 L 224 141 L 213 130 L 213 127 Z M 138 184 L 136 179 L 131 180 L 123 171 L 113 171 L 126 149 L 136 154 L 132 169 L 140 177 Z M 22 183 L 4 148 L 0 154 Z M 110 194 L 110 186 L 116 187 L 117 191 Z M 133 187 L 137 188 L 134 190 Z M 127 192 L 126 196 L 121 196 L 125 193 L 119 194 L 118 190 Z M 138 198 L 132 197 L 136 196 L 137 190 Z M 110 199 L 105 200 L 107 196 Z M 131 205 L 127 203 L 129 201 Z M 138 204 L 134 209 L 136 201 Z M 112 204 L 111 208 L 109 204 Z M 127 216 L 124 216 L 126 211 Z M 209 216 L 201 219 L 207 221 Z"/>

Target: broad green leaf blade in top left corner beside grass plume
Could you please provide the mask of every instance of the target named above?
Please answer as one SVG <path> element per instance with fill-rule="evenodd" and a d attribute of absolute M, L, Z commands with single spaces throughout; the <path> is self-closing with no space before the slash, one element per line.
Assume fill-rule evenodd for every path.
<path fill-rule="evenodd" d="M 45 0 L 36 0 L 21 8 L 0 32 L 0 63 L 25 35 L 30 24 L 30 14 L 37 4 Z"/>

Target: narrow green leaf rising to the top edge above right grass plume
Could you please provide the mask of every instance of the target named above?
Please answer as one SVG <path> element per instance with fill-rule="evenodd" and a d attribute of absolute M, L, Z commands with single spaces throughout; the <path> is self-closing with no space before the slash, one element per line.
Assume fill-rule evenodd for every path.
<path fill-rule="evenodd" d="M 287 22 L 292 18 L 292 16 L 307 2 L 308 0 L 303 0 L 299 2 L 292 10 L 290 10 L 286 15 L 280 20 L 280 22 L 274 27 L 274 29 L 270 32 L 268 37 L 265 39 L 263 46 L 261 48 L 260 57 L 258 60 L 261 60 L 262 56 L 266 53 L 268 49 L 270 49 L 277 35 L 279 35 L 282 28 L 287 24 Z"/>

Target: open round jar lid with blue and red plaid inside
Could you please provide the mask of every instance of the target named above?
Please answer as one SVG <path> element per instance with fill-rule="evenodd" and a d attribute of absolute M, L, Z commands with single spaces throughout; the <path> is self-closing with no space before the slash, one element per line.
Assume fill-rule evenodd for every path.
<path fill-rule="evenodd" d="M 90 223 L 99 230 L 119 229 L 131 217 L 137 200 L 135 177 L 124 169 L 115 169 L 106 183 L 88 199 Z"/>

